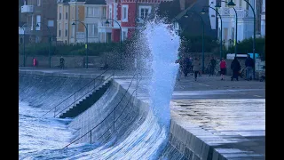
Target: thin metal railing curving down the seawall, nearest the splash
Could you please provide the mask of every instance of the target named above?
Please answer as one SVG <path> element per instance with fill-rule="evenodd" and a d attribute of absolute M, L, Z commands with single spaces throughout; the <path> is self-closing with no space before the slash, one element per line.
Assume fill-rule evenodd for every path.
<path fill-rule="evenodd" d="M 140 75 L 140 79 L 139 79 L 139 81 L 137 80 L 137 85 L 136 85 L 136 87 L 135 87 L 135 90 L 134 90 L 134 91 L 131 93 L 131 95 L 130 95 L 130 100 L 131 100 L 131 98 L 133 97 L 133 96 L 132 96 L 133 93 L 134 93 L 134 92 L 137 92 L 137 90 L 138 90 L 138 84 L 139 84 L 140 81 L 142 80 L 142 75 L 141 75 L 141 73 L 136 73 L 136 74 L 134 74 L 134 76 L 132 76 L 132 78 L 131 78 L 130 85 L 132 84 L 134 77 L 137 76 L 137 78 L 138 78 L 138 75 Z M 102 124 L 102 123 L 106 120 L 107 117 L 109 117 L 109 116 L 112 115 L 112 113 L 114 113 L 114 124 L 115 124 L 115 122 L 118 120 L 118 118 L 119 118 L 120 116 L 122 116 L 122 113 L 124 112 L 125 108 L 128 106 L 130 100 L 128 100 L 126 106 L 122 109 L 122 113 L 121 113 L 116 119 L 115 119 L 115 109 L 118 107 L 118 105 L 119 105 L 119 104 L 122 102 L 122 100 L 124 99 L 126 93 L 127 93 L 127 92 L 129 91 L 129 89 L 130 89 L 130 85 L 128 86 L 127 90 L 124 92 L 124 94 L 123 94 L 123 96 L 122 96 L 122 99 L 117 103 L 117 105 L 114 107 L 114 109 L 113 109 L 99 124 Z M 128 113 L 128 114 L 129 114 L 129 113 Z M 76 140 L 70 142 L 70 143 L 69 143 L 67 146 L 65 146 L 64 148 L 68 148 L 68 146 L 70 146 L 71 144 L 74 144 L 74 143 L 75 143 L 76 141 L 78 141 L 78 140 L 81 140 L 84 136 L 88 135 L 89 133 L 90 133 L 90 137 L 92 138 L 91 132 L 92 132 L 94 129 L 96 129 L 96 128 L 99 126 L 99 124 L 95 125 L 89 132 L 86 132 L 85 134 L 83 134 L 83 135 L 82 135 L 81 137 L 79 137 L 78 139 L 76 139 Z M 106 130 L 106 132 L 109 131 L 109 129 L 111 129 L 112 127 L 113 127 L 113 125 L 111 125 L 111 126 Z M 115 129 L 115 125 L 114 125 L 114 129 Z M 104 133 L 99 137 L 99 139 L 100 139 L 103 135 L 105 135 L 106 132 L 104 132 Z M 97 139 L 97 140 L 99 140 L 99 139 Z M 90 140 L 90 143 L 91 143 L 91 140 Z M 64 149 L 64 148 L 62 148 L 62 149 Z"/>

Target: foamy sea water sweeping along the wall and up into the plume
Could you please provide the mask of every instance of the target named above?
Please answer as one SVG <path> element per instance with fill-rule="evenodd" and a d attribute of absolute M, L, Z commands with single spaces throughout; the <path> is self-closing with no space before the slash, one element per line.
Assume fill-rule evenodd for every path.
<path fill-rule="evenodd" d="M 41 108 L 20 103 L 20 159 L 157 159 L 168 140 L 170 99 L 177 76 L 179 37 L 168 25 L 151 22 L 141 40 L 151 52 L 152 79 L 149 84 L 150 110 L 144 123 L 128 137 L 113 145 L 77 144 L 61 149 L 72 139 L 70 120 L 42 117 Z"/>

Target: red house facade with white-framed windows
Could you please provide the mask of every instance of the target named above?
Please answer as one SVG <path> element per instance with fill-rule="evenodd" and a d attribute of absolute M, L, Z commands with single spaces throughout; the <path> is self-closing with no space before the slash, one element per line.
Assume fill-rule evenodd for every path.
<path fill-rule="evenodd" d="M 110 24 L 99 28 L 99 31 L 110 36 L 113 42 L 126 40 L 144 20 L 154 14 L 154 8 L 158 4 L 170 1 L 172 0 L 106 0 L 106 17 Z"/>

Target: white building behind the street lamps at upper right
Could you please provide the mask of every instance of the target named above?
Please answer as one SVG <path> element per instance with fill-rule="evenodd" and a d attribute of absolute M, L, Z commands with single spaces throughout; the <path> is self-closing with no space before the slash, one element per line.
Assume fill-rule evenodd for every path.
<path fill-rule="evenodd" d="M 211 0 L 216 1 L 216 0 Z M 211 4 L 209 1 L 209 4 Z M 225 0 L 227 3 L 230 0 Z M 254 9 L 255 0 L 248 0 L 249 4 L 251 4 Z M 215 3 L 215 2 L 214 2 Z M 254 15 L 253 12 L 248 5 L 248 3 L 244 0 L 233 0 L 233 3 L 236 4 L 234 9 L 238 14 L 238 26 L 237 26 L 237 39 L 238 42 L 241 42 L 244 39 L 253 37 L 254 33 Z M 210 5 L 215 7 L 215 5 Z M 209 9 L 211 10 L 211 9 Z M 214 11 L 213 11 L 214 12 Z M 235 42 L 235 12 L 233 8 L 229 8 L 226 6 L 225 2 L 221 3 L 221 8 L 218 10 L 221 14 L 221 18 L 223 20 L 223 28 L 222 28 L 222 40 L 225 42 L 225 46 L 228 47 L 229 44 L 234 44 Z M 220 37 L 221 32 L 221 20 L 217 16 L 218 19 L 218 38 Z"/>

